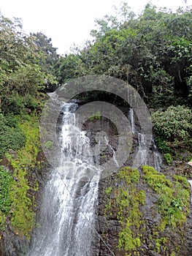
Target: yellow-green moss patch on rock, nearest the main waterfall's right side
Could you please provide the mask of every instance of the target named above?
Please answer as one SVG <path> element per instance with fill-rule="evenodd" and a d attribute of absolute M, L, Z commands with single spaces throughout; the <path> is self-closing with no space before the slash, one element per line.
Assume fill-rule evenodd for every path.
<path fill-rule="evenodd" d="M 119 187 L 115 189 L 106 189 L 110 197 L 110 211 L 115 209 L 115 214 L 122 227 L 119 233 L 118 248 L 124 249 L 127 253 L 139 248 L 142 244 L 142 212 L 140 205 L 145 204 L 145 192 L 137 189 L 139 183 L 139 171 L 124 167 L 116 175 Z M 107 205 L 109 206 L 109 204 Z M 106 208 L 107 210 L 107 208 Z M 108 211 L 108 214 L 110 214 Z M 107 211 L 106 211 L 107 213 Z M 139 230 L 141 231 L 139 233 Z M 137 255 L 137 254 L 136 254 Z"/>

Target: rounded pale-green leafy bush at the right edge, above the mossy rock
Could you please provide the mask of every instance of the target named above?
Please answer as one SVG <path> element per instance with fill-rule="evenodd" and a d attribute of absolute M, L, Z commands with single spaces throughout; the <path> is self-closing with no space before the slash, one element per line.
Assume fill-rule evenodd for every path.
<path fill-rule="evenodd" d="M 166 140 L 183 140 L 192 132 L 192 111 L 185 106 L 157 110 L 152 118 L 156 135 Z"/>

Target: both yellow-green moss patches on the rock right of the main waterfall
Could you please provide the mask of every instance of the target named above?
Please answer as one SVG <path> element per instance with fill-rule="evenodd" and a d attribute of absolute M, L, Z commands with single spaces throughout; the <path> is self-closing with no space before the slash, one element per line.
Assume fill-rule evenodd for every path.
<path fill-rule="evenodd" d="M 161 218 L 153 224 L 150 236 L 147 237 L 147 246 L 156 253 L 167 253 L 167 246 L 171 243 L 169 236 L 164 236 L 166 227 L 183 227 L 190 208 L 190 187 L 183 176 L 166 178 L 153 167 L 143 166 L 142 176 L 138 170 L 124 167 L 116 173 L 115 184 L 105 192 L 107 202 L 105 216 L 117 218 L 121 225 L 118 238 L 118 249 L 125 255 L 137 255 L 146 243 L 147 222 L 143 219 L 141 206 L 145 205 L 145 191 L 139 189 L 139 180 L 147 184 L 156 194 L 154 214 Z M 182 238 L 182 234 L 181 234 Z M 179 251 L 171 248 L 172 255 Z"/>

